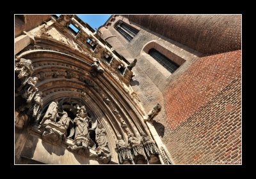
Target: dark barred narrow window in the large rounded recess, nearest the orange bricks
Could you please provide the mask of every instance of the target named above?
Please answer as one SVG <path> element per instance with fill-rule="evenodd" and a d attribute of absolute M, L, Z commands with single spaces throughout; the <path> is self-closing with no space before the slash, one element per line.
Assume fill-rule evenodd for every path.
<path fill-rule="evenodd" d="M 148 54 L 171 73 L 173 73 L 177 68 L 179 68 L 179 65 L 175 64 L 175 62 L 171 61 L 154 48 L 151 48 L 148 51 Z"/>

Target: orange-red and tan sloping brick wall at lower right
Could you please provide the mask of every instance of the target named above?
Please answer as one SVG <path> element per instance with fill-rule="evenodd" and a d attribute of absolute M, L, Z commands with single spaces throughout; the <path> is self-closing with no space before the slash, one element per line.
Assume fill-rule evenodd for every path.
<path fill-rule="evenodd" d="M 241 50 L 198 59 L 165 96 L 163 141 L 175 163 L 241 163 Z"/>

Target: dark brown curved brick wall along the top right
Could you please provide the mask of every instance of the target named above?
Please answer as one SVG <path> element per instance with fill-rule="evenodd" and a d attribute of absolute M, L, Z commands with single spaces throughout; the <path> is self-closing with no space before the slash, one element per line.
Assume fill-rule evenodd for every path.
<path fill-rule="evenodd" d="M 123 15 L 205 55 L 241 49 L 241 15 Z"/>

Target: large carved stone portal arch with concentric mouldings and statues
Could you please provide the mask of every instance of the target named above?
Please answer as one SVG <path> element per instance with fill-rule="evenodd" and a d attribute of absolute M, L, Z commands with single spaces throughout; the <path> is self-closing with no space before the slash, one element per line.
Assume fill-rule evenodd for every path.
<path fill-rule="evenodd" d="M 131 97 L 129 80 L 136 62 L 125 68 L 123 76 L 118 66 L 124 63 L 113 54 L 110 64 L 102 63 L 103 44 L 98 42 L 95 52 L 77 48 L 92 34 L 67 34 L 73 18 L 61 15 L 38 27 L 44 29 L 42 34 L 29 32 L 35 43 L 17 54 L 15 126 L 22 128 L 33 119 L 31 129 L 45 142 L 102 164 L 156 162 L 159 153 L 147 135 L 145 113 Z M 100 54 L 97 61 L 95 54 Z"/>

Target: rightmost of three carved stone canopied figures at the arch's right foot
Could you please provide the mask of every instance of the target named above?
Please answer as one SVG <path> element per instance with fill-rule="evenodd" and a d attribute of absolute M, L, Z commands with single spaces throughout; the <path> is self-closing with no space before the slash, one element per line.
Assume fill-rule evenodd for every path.
<path fill-rule="evenodd" d="M 147 134 L 142 134 L 143 136 L 143 147 L 147 155 L 148 161 L 150 163 L 155 163 L 159 161 L 159 152 L 156 147 L 156 143 L 150 139 Z"/>

